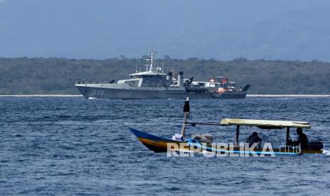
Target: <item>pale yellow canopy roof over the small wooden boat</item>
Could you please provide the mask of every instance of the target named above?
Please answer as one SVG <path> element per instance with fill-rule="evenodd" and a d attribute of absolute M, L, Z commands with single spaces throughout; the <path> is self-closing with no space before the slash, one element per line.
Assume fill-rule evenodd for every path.
<path fill-rule="evenodd" d="M 301 127 L 310 129 L 311 125 L 304 121 L 268 121 L 268 120 L 253 120 L 253 119 L 222 119 L 221 125 L 243 125 L 243 126 L 258 126 L 261 129 L 275 129 L 282 127 Z"/>

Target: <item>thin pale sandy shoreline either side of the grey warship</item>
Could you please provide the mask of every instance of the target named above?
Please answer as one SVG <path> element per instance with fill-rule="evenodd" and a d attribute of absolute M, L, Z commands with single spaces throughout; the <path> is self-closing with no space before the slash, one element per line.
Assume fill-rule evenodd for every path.
<path fill-rule="evenodd" d="M 11 94 L 0 97 L 82 97 L 81 94 Z M 248 94 L 247 97 L 330 97 L 330 94 Z"/>

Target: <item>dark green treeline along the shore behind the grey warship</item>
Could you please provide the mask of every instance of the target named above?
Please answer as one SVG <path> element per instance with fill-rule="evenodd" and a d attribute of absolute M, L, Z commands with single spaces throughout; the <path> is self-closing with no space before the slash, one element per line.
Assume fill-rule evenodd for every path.
<path fill-rule="evenodd" d="M 251 94 L 329 94 L 330 63 L 282 60 L 221 61 L 189 58 L 156 60 L 165 71 L 185 78 L 209 80 L 226 76 L 238 85 L 251 84 Z M 128 78 L 143 59 L 0 58 L 0 94 L 79 94 L 75 82 L 107 82 Z"/>

